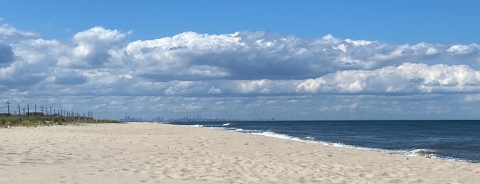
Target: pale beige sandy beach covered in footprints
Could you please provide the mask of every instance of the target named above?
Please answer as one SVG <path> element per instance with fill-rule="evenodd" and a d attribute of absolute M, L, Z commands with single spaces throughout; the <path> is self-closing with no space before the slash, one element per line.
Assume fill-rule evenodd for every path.
<path fill-rule="evenodd" d="M 480 164 L 169 124 L 0 129 L 0 183 L 480 183 Z"/>

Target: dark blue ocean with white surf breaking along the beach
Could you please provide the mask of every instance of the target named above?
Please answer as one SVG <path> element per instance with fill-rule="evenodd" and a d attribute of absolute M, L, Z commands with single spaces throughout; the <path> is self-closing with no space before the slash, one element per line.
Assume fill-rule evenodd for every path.
<path fill-rule="evenodd" d="M 279 139 L 480 163 L 480 121 L 172 122 Z"/>

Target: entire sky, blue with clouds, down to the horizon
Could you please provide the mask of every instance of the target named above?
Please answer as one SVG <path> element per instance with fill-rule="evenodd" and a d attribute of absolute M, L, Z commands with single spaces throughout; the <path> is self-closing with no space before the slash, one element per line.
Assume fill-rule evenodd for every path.
<path fill-rule="evenodd" d="M 0 0 L 0 112 L 480 119 L 478 7 Z"/>

